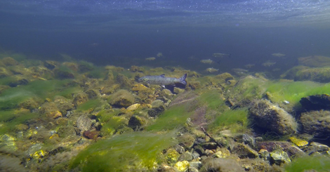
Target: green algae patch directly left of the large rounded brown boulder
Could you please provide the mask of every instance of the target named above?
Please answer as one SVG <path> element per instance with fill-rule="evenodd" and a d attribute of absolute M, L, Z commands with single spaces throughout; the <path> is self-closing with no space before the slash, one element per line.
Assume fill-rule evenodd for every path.
<path fill-rule="evenodd" d="M 227 110 L 209 124 L 211 131 L 230 130 L 232 133 L 242 133 L 247 130 L 248 126 L 247 110 Z"/>

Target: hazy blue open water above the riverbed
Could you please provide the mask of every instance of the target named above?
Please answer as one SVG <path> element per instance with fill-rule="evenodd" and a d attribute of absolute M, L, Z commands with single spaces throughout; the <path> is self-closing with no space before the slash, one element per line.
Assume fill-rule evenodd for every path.
<path fill-rule="evenodd" d="M 250 72 L 283 73 L 299 57 L 330 55 L 324 0 L 2 0 L 0 19 L 0 47 L 41 60 L 65 53 L 96 65 L 227 72 L 250 64 Z"/>

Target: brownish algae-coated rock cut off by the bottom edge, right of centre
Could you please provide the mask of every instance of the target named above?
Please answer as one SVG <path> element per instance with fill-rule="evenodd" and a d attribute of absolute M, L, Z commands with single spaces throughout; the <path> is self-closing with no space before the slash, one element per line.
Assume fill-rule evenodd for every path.
<path fill-rule="evenodd" d="M 239 166 L 237 161 L 234 159 L 223 159 L 223 158 L 216 158 L 216 159 L 207 159 L 202 168 L 200 169 L 201 172 L 207 171 L 217 171 L 217 172 L 244 172 L 244 168 Z"/>

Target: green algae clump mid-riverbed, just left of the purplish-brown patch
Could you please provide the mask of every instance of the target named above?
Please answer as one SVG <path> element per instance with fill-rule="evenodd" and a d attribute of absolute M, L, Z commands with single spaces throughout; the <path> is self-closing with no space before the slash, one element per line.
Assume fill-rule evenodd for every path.
<path fill-rule="evenodd" d="M 184 126 L 187 118 L 192 112 L 187 112 L 185 105 L 178 105 L 165 110 L 163 114 L 154 121 L 154 124 L 147 126 L 147 131 L 169 131 Z"/>

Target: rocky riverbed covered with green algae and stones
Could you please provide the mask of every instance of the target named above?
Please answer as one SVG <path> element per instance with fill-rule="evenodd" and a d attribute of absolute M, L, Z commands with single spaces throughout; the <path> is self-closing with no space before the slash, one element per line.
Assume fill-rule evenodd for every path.
<path fill-rule="evenodd" d="M 330 84 L 270 81 L 242 69 L 240 78 L 203 76 L 181 67 L 125 70 L 68 55 L 70 62 L 16 56 L 0 55 L 0 157 L 20 159 L 32 171 L 330 168 L 327 138 L 325 145 L 313 139 L 330 134 Z M 187 86 L 137 82 L 185 73 Z M 303 107 L 301 98 L 315 108 Z"/>

